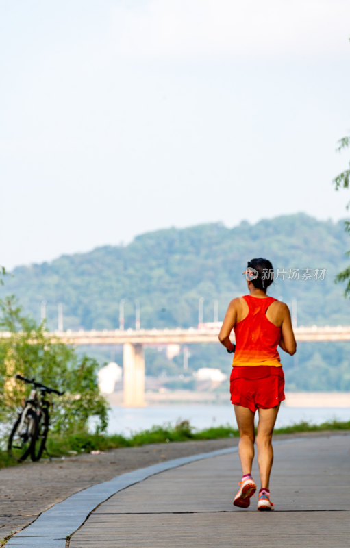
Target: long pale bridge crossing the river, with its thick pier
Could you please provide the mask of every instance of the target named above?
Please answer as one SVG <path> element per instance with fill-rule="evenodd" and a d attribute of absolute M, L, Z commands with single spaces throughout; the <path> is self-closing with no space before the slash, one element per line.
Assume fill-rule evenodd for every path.
<path fill-rule="evenodd" d="M 210 324 L 209 324 L 210 325 Z M 199 328 L 182 329 L 114 329 L 103 331 L 56 331 L 47 333 L 47 338 L 61 340 L 68 345 L 123 345 L 124 405 L 145 405 L 145 353 L 144 346 L 172 344 L 218 343 L 221 323 L 199 325 Z M 350 325 L 318 327 L 294 327 L 297 342 L 325 342 L 350 340 Z M 1 332 L 1 337 L 10 333 Z M 232 332 L 234 340 L 234 332 Z"/>

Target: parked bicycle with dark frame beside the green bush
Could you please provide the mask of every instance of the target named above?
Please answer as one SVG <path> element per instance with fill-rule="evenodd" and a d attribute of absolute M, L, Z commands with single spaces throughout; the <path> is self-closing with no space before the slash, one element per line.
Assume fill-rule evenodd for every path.
<path fill-rule="evenodd" d="M 15 378 L 34 388 L 25 401 L 14 423 L 9 440 L 8 453 L 18 462 L 23 462 L 29 455 L 33 462 L 40 459 L 46 449 L 47 433 L 49 432 L 49 407 L 53 404 L 47 399 L 47 394 L 64 395 L 54 388 L 36 382 L 35 379 L 26 379 L 21 375 Z M 40 394 L 38 393 L 40 392 Z"/>

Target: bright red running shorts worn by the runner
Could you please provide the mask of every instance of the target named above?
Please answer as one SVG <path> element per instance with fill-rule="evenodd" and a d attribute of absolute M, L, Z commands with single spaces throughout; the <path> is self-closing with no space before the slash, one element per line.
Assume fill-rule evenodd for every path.
<path fill-rule="evenodd" d="M 271 409 L 286 399 L 282 367 L 269 365 L 234 366 L 230 378 L 231 401 L 253 413 Z"/>

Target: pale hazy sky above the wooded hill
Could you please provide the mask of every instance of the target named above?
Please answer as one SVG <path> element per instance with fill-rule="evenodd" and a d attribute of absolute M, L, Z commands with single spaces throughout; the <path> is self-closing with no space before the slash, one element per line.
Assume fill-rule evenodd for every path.
<path fill-rule="evenodd" d="M 0 264 L 340 219 L 349 0 L 0 0 Z"/>

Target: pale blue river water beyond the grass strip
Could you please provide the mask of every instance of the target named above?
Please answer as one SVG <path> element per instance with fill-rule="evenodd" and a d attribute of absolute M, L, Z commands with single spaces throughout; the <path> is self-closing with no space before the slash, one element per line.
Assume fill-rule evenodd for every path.
<path fill-rule="evenodd" d="M 350 408 L 295 408 L 283 405 L 277 416 L 276 427 L 289 426 L 301 421 L 321 424 L 325 421 L 350 421 Z M 172 405 L 142 408 L 113 407 L 110 410 L 109 434 L 129 436 L 132 432 L 149 429 L 154 425 L 188 420 L 196 429 L 227 425 L 237 427 L 231 405 Z"/>

